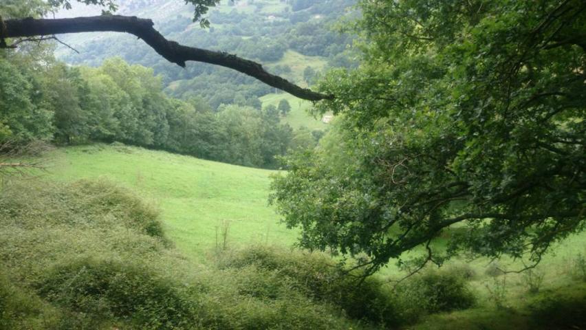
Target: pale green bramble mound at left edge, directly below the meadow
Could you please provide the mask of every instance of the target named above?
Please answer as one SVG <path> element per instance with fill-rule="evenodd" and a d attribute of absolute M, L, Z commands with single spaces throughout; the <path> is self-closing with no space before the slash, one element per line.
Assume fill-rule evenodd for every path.
<path fill-rule="evenodd" d="M 12 219 L 25 227 L 124 225 L 169 243 L 158 217 L 157 208 L 106 179 L 72 184 L 17 181 L 0 193 L 0 220 Z"/>

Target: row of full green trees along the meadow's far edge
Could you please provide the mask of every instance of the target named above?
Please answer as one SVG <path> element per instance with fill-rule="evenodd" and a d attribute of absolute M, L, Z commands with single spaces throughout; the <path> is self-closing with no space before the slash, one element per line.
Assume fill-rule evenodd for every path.
<path fill-rule="evenodd" d="M 242 98 L 212 111 L 202 100 L 167 97 L 152 69 L 120 58 L 67 67 L 41 48 L 0 58 L 0 140 L 119 141 L 264 168 L 307 144 L 296 144 L 296 133 L 280 122 L 286 101 L 261 110 Z"/>

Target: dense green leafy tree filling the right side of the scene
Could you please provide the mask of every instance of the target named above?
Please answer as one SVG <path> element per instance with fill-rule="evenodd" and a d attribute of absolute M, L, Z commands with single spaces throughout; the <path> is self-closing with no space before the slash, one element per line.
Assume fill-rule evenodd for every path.
<path fill-rule="evenodd" d="M 584 229 L 586 3 L 360 8 L 362 65 L 321 82 L 336 96 L 321 111 L 342 122 L 273 183 L 301 245 L 363 252 L 371 271 L 418 246 L 418 265 L 458 252 L 538 262 Z M 446 230 L 447 249 L 433 248 Z"/>

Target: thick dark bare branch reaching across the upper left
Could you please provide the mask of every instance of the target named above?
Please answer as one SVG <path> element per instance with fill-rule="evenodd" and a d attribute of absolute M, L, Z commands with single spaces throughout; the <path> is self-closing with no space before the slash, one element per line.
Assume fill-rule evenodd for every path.
<path fill-rule="evenodd" d="M 138 36 L 163 56 L 167 61 L 185 67 L 186 61 L 197 61 L 235 69 L 243 74 L 257 78 L 272 87 L 282 89 L 304 100 L 317 101 L 332 98 L 310 89 L 299 87 L 289 81 L 269 74 L 259 63 L 240 58 L 225 52 L 213 52 L 195 47 L 180 45 L 165 39 L 153 28 L 150 19 L 104 15 L 96 17 L 77 17 L 74 19 L 9 19 L 4 21 L 0 40 L 30 36 L 50 36 L 53 34 L 80 32 L 126 32 Z"/>

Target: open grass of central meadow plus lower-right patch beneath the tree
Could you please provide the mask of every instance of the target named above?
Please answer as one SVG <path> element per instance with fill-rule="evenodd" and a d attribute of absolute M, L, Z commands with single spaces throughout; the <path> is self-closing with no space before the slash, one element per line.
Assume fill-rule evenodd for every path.
<path fill-rule="evenodd" d="M 210 252 L 222 243 L 225 223 L 229 224 L 228 248 L 258 243 L 290 247 L 296 241 L 296 231 L 280 224 L 267 203 L 269 176 L 274 171 L 121 144 L 58 148 L 50 157 L 53 166 L 48 179 L 107 177 L 155 203 L 166 235 L 196 264 L 207 263 Z M 442 241 L 437 241 L 437 247 Z M 495 276 L 487 259 L 451 261 L 446 269 L 470 273 L 476 307 L 426 316 L 408 329 L 531 329 L 528 320 L 539 302 L 552 297 L 586 298 L 586 285 L 576 280 L 586 278 L 580 273 L 586 272 L 585 258 L 586 234 L 582 233 L 552 247 L 533 278 L 526 273 Z M 505 270 L 523 267 L 520 261 L 509 259 L 496 263 Z M 378 276 L 391 280 L 403 274 L 391 264 Z M 539 292 L 530 293 L 529 284 L 536 277 L 541 277 Z"/>

